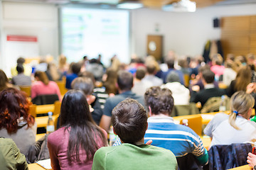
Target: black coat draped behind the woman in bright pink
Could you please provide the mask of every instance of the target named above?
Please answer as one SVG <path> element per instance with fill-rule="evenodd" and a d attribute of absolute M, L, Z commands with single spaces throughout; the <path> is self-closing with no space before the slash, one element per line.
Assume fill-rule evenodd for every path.
<path fill-rule="evenodd" d="M 40 95 L 36 96 L 32 99 L 32 103 L 36 105 L 47 105 L 47 104 L 53 104 L 55 101 L 58 101 L 58 95 L 57 94 L 47 94 L 47 95 Z"/>

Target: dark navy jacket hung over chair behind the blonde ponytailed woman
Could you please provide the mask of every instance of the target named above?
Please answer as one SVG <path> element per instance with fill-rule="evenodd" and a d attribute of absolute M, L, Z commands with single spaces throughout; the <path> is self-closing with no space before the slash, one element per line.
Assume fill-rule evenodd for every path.
<path fill-rule="evenodd" d="M 232 169 L 247 164 L 247 154 L 252 152 L 250 143 L 213 145 L 208 151 L 209 169 Z"/>

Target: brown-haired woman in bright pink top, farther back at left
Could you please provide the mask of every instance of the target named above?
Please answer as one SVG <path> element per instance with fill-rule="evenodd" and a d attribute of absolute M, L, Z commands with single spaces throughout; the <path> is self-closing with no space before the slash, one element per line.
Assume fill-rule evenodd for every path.
<path fill-rule="evenodd" d="M 36 96 L 56 94 L 58 95 L 59 101 L 61 101 L 60 89 L 54 81 L 49 81 L 45 72 L 36 71 L 35 73 L 36 82 L 31 86 L 31 98 Z"/>

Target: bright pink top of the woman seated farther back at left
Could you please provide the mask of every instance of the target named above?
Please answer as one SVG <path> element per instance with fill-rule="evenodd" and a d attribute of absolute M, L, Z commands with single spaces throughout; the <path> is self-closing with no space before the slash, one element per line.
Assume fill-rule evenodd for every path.
<path fill-rule="evenodd" d="M 35 98 L 39 95 L 44 94 L 57 94 L 59 100 L 61 101 L 61 95 L 60 95 L 60 89 L 58 88 L 58 85 L 54 81 L 49 81 L 49 84 L 46 86 L 46 84 L 43 84 L 42 81 L 36 81 L 31 86 L 31 98 Z"/>

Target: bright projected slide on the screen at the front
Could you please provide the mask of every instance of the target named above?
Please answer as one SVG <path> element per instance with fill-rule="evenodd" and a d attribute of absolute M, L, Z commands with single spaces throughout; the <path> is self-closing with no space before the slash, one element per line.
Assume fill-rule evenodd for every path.
<path fill-rule="evenodd" d="M 107 66 L 114 55 L 129 62 L 129 11 L 63 8 L 63 54 L 68 62 L 102 55 Z"/>

